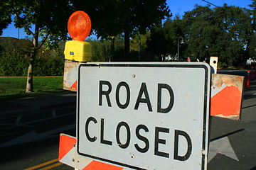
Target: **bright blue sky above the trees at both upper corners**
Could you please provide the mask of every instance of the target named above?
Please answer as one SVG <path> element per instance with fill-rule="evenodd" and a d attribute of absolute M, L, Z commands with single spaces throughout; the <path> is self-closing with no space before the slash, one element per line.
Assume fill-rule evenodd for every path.
<path fill-rule="evenodd" d="M 223 6 L 228 4 L 229 6 L 240 6 L 249 8 L 248 5 L 252 4 L 252 0 L 206 0 L 215 6 Z M 173 15 L 183 16 L 184 12 L 193 10 L 196 4 L 201 6 L 207 6 L 207 3 L 202 0 L 167 0 L 167 4 L 171 9 Z M 23 29 L 19 30 L 19 38 L 26 38 L 26 33 Z M 18 29 L 14 27 L 14 24 L 9 25 L 3 32 L 1 37 L 14 37 L 18 38 Z"/>

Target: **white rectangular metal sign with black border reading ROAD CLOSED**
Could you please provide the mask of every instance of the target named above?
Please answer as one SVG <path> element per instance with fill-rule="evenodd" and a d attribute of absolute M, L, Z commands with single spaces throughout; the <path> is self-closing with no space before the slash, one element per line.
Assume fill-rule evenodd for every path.
<path fill-rule="evenodd" d="M 129 169 L 206 169 L 210 67 L 78 67 L 78 154 Z"/>

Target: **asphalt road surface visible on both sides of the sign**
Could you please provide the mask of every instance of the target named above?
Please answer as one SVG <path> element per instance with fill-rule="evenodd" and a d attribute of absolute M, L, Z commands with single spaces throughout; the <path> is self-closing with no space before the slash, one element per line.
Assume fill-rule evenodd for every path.
<path fill-rule="evenodd" d="M 246 75 L 235 70 L 219 73 Z M 12 114 L 4 111 L 0 128 L 1 169 L 73 169 L 57 158 L 59 133 L 75 136 L 75 102 Z M 209 170 L 256 169 L 256 80 L 244 91 L 241 120 L 211 118 L 208 159 Z"/>

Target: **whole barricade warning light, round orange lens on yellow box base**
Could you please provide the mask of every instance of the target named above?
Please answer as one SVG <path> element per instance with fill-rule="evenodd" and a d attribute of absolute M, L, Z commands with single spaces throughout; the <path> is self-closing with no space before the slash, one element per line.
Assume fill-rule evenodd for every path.
<path fill-rule="evenodd" d="M 90 17 L 84 11 L 75 11 L 68 19 L 68 33 L 73 40 L 65 42 L 65 60 L 89 62 L 92 57 L 92 46 L 84 41 L 91 30 Z"/>

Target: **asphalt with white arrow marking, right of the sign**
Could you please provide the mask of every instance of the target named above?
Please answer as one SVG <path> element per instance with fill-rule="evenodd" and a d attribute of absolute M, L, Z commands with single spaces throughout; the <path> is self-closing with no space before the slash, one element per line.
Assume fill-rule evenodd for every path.
<path fill-rule="evenodd" d="M 255 96 L 256 97 L 256 96 Z M 256 98 L 242 103 L 241 120 L 212 118 L 208 169 L 256 169 Z"/>

